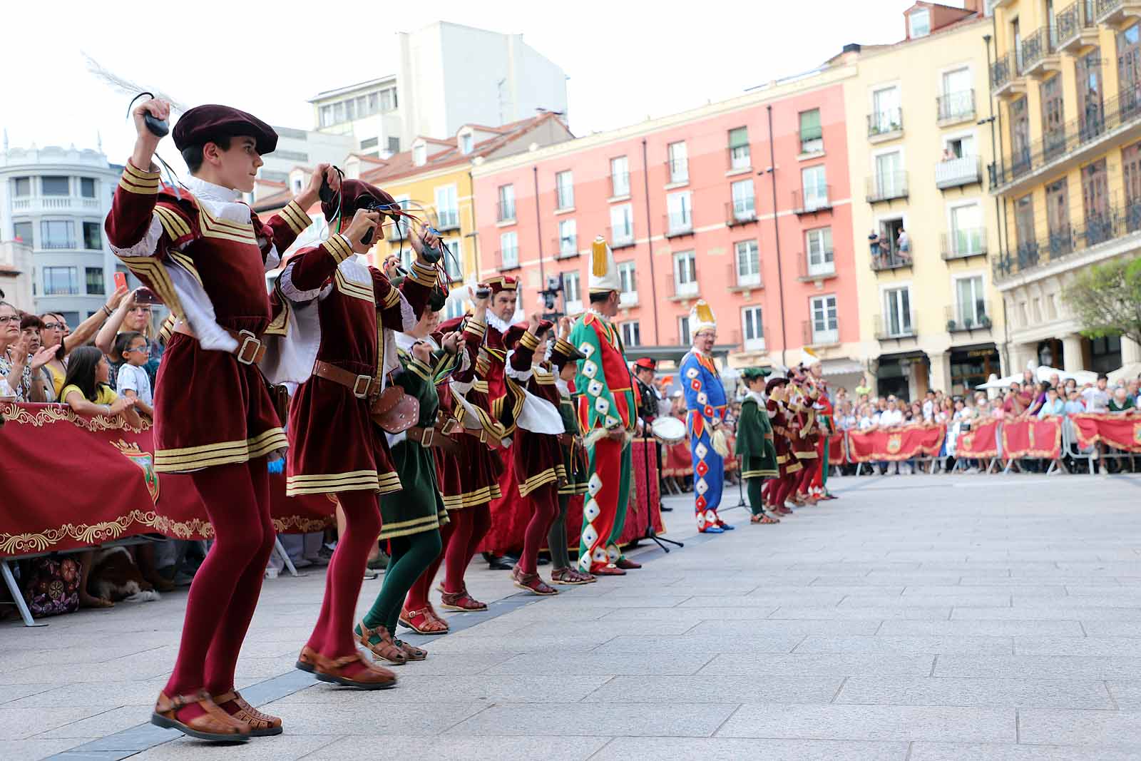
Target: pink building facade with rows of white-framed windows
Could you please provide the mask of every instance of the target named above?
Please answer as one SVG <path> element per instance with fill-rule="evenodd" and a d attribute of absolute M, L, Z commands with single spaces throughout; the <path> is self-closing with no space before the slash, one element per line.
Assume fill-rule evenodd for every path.
<path fill-rule="evenodd" d="M 527 311 L 556 277 L 556 309 L 576 314 L 602 235 L 622 272 L 615 322 L 631 354 L 688 347 L 704 298 L 730 365 L 794 364 L 814 346 L 833 374 L 857 373 L 848 75 L 824 70 L 475 165 L 480 276 L 518 276 Z"/>

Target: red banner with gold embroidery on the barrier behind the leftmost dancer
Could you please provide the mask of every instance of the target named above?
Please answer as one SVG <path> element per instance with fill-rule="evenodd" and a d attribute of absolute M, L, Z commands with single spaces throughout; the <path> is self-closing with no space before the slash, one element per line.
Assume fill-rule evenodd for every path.
<path fill-rule="evenodd" d="M 0 556 L 70 550 L 161 533 L 209 539 L 213 528 L 189 476 L 154 472 L 151 424 L 76 415 L 58 404 L 0 404 Z M 319 531 L 332 516 L 324 495 L 286 497 L 270 475 L 280 533 Z"/>

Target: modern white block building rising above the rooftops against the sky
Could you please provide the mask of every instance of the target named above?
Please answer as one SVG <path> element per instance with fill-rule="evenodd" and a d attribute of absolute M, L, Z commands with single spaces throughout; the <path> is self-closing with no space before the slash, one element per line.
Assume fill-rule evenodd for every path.
<path fill-rule="evenodd" d="M 566 113 L 566 73 L 521 34 L 436 22 L 397 40 L 396 74 L 309 100 L 317 129 L 351 135 L 355 153 L 388 157 L 416 137 L 450 138 L 464 124 Z"/>

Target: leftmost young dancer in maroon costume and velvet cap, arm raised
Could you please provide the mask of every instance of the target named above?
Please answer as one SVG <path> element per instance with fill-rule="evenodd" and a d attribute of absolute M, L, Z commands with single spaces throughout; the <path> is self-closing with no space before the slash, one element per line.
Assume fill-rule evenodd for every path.
<path fill-rule="evenodd" d="M 259 369 L 273 335 L 284 337 L 289 306 L 266 293 L 265 272 L 309 224 L 327 164 L 281 213 L 262 222 L 240 201 L 253 188 L 273 128 L 227 106 L 199 106 L 175 126 L 193 177 L 161 187 L 152 157 L 159 137 L 133 111 L 137 138 L 115 191 L 106 230 L 115 254 L 163 300 L 178 323 L 154 394 L 155 470 L 187 472 L 215 531 L 194 576 L 175 671 L 152 722 L 208 740 L 281 734 L 281 720 L 234 691 L 234 667 L 274 545 L 266 458 L 285 432 Z M 335 183 L 335 177 L 329 177 Z M 300 381 L 308 369 L 297 371 Z M 276 378 L 275 380 L 288 380 Z"/>

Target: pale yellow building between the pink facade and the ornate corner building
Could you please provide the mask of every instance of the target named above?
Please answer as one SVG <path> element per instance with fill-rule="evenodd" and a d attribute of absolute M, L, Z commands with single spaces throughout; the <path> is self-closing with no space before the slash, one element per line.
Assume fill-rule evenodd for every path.
<path fill-rule="evenodd" d="M 860 355 L 873 392 L 916 399 L 1001 373 L 1004 332 L 987 259 L 990 19 L 916 3 L 905 22 L 903 42 L 842 55 L 859 72 L 844 105 Z"/>

